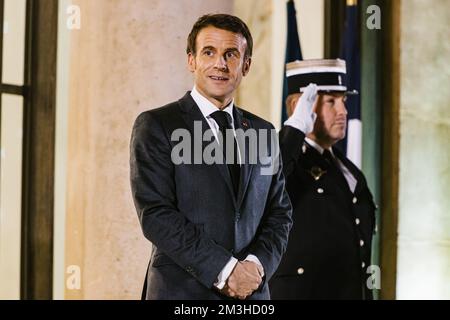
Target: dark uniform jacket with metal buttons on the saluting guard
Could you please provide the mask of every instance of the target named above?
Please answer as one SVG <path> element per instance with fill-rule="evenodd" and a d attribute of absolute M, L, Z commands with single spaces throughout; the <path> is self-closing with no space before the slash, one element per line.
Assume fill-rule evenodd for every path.
<path fill-rule="evenodd" d="M 357 180 L 352 193 L 300 130 L 285 126 L 279 138 L 294 223 L 270 284 L 272 298 L 370 299 L 375 204 L 363 173 L 333 148 Z"/>

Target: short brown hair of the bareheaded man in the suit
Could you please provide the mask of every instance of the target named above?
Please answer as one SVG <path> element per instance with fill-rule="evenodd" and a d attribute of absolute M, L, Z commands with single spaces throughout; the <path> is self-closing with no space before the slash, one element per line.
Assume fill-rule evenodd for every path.
<path fill-rule="evenodd" d="M 247 25 L 236 16 L 229 14 L 206 14 L 201 16 L 192 27 L 187 40 L 186 53 L 196 54 L 196 40 L 200 31 L 206 27 L 213 26 L 218 29 L 231 31 L 242 35 L 247 40 L 245 49 L 245 58 L 250 58 L 253 51 L 253 38 Z"/>

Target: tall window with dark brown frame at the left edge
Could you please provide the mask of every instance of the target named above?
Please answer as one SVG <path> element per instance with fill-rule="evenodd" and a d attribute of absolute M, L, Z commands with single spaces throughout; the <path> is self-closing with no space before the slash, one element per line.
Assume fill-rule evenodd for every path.
<path fill-rule="evenodd" d="M 0 299 L 51 299 L 57 0 L 0 0 Z"/>

